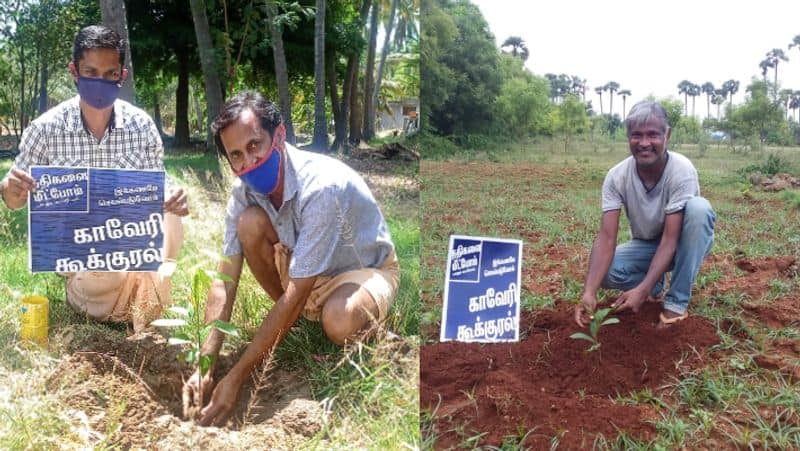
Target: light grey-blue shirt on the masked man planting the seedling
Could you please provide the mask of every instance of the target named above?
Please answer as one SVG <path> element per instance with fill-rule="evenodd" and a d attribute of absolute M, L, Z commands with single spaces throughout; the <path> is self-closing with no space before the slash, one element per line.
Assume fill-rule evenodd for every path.
<path fill-rule="evenodd" d="M 291 251 L 289 277 L 333 276 L 379 267 L 394 244 L 372 192 L 358 173 L 334 158 L 286 145 L 283 204 L 275 209 L 265 195 L 240 179 L 233 184 L 225 217 L 223 253 L 239 255 L 239 216 L 261 207 L 278 239 Z"/>

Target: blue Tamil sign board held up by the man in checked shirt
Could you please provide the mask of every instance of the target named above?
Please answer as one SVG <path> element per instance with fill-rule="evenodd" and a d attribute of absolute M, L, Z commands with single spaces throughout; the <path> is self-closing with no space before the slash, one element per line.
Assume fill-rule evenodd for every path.
<path fill-rule="evenodd" d="M 157 271 L 164 172 L 33 166 L 32 272 Z"/>

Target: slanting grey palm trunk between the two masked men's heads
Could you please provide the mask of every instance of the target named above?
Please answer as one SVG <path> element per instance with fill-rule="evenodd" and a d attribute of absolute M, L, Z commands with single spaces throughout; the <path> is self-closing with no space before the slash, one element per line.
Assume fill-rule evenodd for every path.
<path fill-rule="evenodd" d="M 194 21 L 194 32 L 197 36 L 197 52 L 200 54 L 200 65 L 203 68 L 203 80 L 206 88 L 206 103 L 208 105 L 206 149 L 214 148 L 214 138 L 211 135 L 211 123 L 222 110 L 222 88 L 217 73 L 214 45 L 211 42 L 211 32 L 208 27 L 206 5 L 203 0 L 189 0 Z"/>

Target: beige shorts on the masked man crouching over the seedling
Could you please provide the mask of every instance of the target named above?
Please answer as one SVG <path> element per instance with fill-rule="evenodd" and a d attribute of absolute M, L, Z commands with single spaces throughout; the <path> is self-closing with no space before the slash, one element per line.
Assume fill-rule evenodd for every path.
<path fill-rule="evenodd" d="M 274 246 L 275 264 L 278 276 L 281 278 L 281 286 L 285 290 L 289 285 L 289 260 L 291 252 L 281 243 Z M 394 250 L 380 268 L 362 268 L 347 271 L 335 276 L 318 276 L 314 282 L 314 288 L 306 300 L 303 307 L 303 316 L 312 320 L 319 321 L 322 315 L 322 307 L 334 290 L 342 285 L 354 283 L 364 287 L 369 292 L 375 303 L 378 304 L 380 312 L 379 321 L 386 318 L 389 307 L 392 306 L 397 295 L 397 288 L 400 285 L 400 265 L 397 262 L 397 254 Z"/>

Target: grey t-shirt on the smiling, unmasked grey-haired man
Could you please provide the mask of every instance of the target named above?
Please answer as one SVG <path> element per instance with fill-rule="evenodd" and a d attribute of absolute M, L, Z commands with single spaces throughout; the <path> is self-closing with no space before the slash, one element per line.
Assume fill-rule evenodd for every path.
<path fill-rule="evenodd" d="M 603 182 L 603 213 L 625 207 L 634 239 L 655 240 L 664 231 L 666 215 L 683 210 L 700 195 L 697 170 L 688 158 L 667 151 L 667 166 L 656 186 L 647 190 L 630 156 L 611 168 Z"/>

